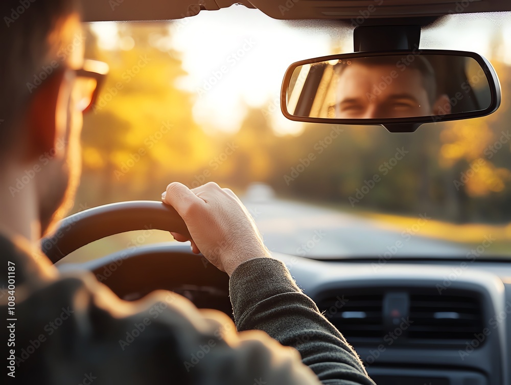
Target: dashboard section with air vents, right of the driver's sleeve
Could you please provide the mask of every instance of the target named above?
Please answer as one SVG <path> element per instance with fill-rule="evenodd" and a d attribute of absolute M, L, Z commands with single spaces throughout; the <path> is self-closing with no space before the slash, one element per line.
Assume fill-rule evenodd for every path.
<path fill-rule="evenodd" d="M 376 383 L 509 383 L 508 263 L 279 257 Z"/>

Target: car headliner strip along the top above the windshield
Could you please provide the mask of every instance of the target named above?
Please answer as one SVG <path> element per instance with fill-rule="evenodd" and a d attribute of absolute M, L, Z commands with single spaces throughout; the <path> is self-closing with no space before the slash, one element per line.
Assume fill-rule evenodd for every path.
<path fill-rule="evenodd" d="M 240 4 L 282 20 L 364 17 L 371 24 L 427 25 L 453 13 L 511 11 L 509 0 L 82 0 L 84 21 L 156 21 L 193 16 Z M 385 19 L 385 20 L 383 20 Z"/>

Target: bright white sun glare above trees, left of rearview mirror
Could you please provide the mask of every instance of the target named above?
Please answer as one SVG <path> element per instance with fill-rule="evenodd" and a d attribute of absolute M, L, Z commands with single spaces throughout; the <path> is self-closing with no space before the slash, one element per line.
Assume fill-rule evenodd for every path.
<path fill-rule="evenodd" d="M 194 119 L 204 129 L 237 131 L 249 106 L 261 108 L 279 134 L 301 131 L 301 123 L 280 119 L 274 101 L 289 64 L 331 53 L 327 34 L 293 30 L 241 6 L 201 12 L 169 29 L 188 72 L 177 86 L 195 94 Z"/>

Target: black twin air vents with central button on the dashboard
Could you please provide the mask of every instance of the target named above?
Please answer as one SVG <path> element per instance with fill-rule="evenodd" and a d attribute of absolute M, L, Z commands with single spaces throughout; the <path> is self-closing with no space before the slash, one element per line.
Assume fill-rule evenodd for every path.
<path fill-rule="evenodd" d="M 482 300 L 472 291 L 440 295 L 431 287 L 349 288 L 319 298 L 320 311 L 353 345 L 458 346 L 484 328 Z"/>

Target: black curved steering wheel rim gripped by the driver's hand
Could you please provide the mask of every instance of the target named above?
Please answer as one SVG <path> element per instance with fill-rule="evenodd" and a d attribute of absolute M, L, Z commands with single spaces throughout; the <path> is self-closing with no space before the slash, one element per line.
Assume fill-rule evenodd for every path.
<path fill-rule="evenodd" d="M 98 239 L 148 229 L 190 237 L 187 225 L 172 206 L 153 200 L 132 200 L 94 207 L 62 219 L 51 236 L 41 239 L 41 250 L 56 263 Z"/>

